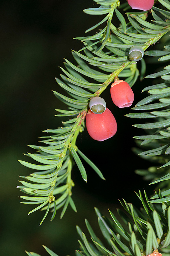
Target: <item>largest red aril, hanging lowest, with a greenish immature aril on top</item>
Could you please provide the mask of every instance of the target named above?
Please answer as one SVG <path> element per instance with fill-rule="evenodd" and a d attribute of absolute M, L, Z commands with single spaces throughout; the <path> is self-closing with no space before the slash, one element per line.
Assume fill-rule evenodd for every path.
<path fill-rule="evenodd" d="M 92 139 L 103 141 L 115 135 L 117 123 L 108 108 L 102 114 L 94 114 L 89 109 L 86 115 L 86 128 Z"/>

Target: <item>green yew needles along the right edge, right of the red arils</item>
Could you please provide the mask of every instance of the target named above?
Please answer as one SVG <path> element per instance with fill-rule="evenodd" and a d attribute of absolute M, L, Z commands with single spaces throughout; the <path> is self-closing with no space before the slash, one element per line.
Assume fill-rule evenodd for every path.
<path fill-rule="evenodd" d="M 170 46 L 164 46 L 164 51 L 152 50 L 146 51 L 145 55 L 160 57 L 158 61 L 168 61 L 170 59 Z M 145 129 L 148 135 L 138 135 L 134 138 L 139 140 L 141 148 L 144 150 L 135 150 L 141 157 L 157 163 L 156 167 L 150 167 L 148 170 L 137 170 L 137 173 L 151 180 L 151 184 L 159 184 L 163 189 L 163 194 L 158 194 L 152 199 L 152 203 L 169 202 L 169 165 L 170 165 L 170 70 L 169 65 L 162 68 L 161 71 L 146 76 L 146 78 L 156 78 L 156 84 L 145 87 L 142 92 L 148 92 L 150 95 L 139 101 L 132 110 L 138 113 L 130 113 L 126 116 L 137 119 L 146 119 L 145 123 L 135 124 L 135 127 Z M 159 83 L 160 82 L 160 83 Z M 153 102 L 153 103 L 152 103 Z M 154 120 L 154 121 L 153 121 Z M 140 152 L 140 153 L 139 153 Z M 166 198 L 165 198 L 166 196 Z"/>

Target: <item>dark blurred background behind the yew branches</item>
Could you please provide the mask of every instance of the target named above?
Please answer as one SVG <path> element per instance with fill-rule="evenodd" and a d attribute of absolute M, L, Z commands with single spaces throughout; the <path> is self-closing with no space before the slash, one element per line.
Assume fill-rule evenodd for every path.
<path fill-rule="evenodd" d="M 106 181 L 85 165 L 86 184 L 75 167 L 72 191 L 78 213 L 68 207 L 60 220 L 59 210 L 53 222 L 49 214 L 41 226 L 38 224 L 44 213 L 38 211 L 27 216 L 31 206 L 19 202 L 22 193 L 16 188 L 18 175 L 29 175 L 30 169 L 17 159 L 28 160 L 22 153 L 31 151 L 26 144 L 37 145 L 41 130 L 57 128 L 62 120 L 67 120 L 54 117 L 55 108 L 66 107 L 51 90 L 61 91 L 55 77 L 61 73 L 58 66 L 64 66 L 63 58 L 74 62 L 71 49 L 82 47 L 80 41 L 72 38 L 84 36 L 86 29 L 101 20 L 100 16 L 83 13 L 83 9 L 90 7 L 95 7 L 92 0 L 0 1 L 0 254 L 3 256 L 26 255 L 24 250 L 47 255 L 42 244 L 60 256 L 74 255 L 79 248 L 76 225 L 87 234 L 84 218 L 101 237 L 94 206 L 109 216 L 108 208 L 115 212 L 122 197 L 140 205 L 134 190 L 145 187 L 152 193 L 148 182 L 134 173 L 136 168 L 150 166 L 131 151 L 135 146 L 132 137 L 141 131 L 132 127 L 134 120 L 124 117 L 129 109 L 113 105 L 108 88 L 102 97 L 117 120 L 116 135 L 98 142 L 84 131 L 77 140 L 79 149 L 100 168 Z M 136 94 L 145 85 L 135 84 L 135 103 L 143 97 Z"/>

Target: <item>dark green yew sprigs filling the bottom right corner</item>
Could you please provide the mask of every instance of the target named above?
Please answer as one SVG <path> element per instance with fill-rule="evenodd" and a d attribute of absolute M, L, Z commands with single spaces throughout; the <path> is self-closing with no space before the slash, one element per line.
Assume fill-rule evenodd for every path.
<path fill-rule="evenodd" d="M 101 241 L 93 231 L 92 226 L 85 219 L 86 227 L 91 237 L 87 236 L 77 226 L 80 236 L 78 240 L 80 249 L 76 255 L 81 256 L 141 256 L 149 255 L 153 250 L 166 252 L 170 244 L 170 206 L 167 203 L 151 204 L 148 201 L 146 192 L 144 197 L 141 191 L 136 193 L 143 208 L 136 208 L 125 200 L 120 201 L 126 213 L 117 209 L 119 219 L 110 210 L 111 218 L 103 216 L 99 209 L 95 208 L 98 218 L 98 225 L 105 241 Z M 44 246 L 51 256 L 56 254 Z M 35 255 L 36 254 L 29 254 Z"/>

